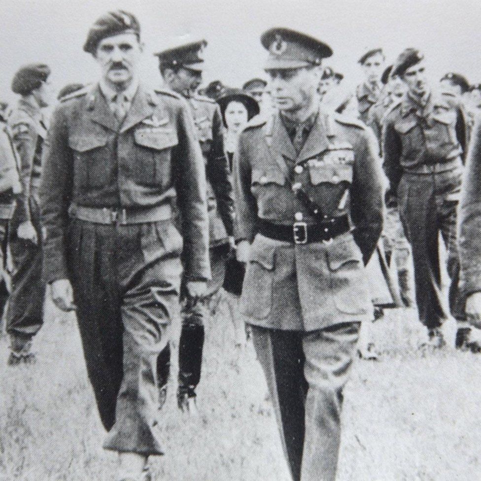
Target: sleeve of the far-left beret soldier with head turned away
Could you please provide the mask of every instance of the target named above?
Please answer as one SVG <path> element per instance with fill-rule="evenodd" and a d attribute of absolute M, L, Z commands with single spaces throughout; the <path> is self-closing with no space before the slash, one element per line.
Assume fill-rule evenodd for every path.
<path fill-rule="evenodd" d="M 31 220 L 30 217 L 30 178 L 34 162 L 37 143 L 37 131 L 34 121 L 20 112 L 13 113 L 9 119 L 12 140 L 19 156 L 20 182 L 22 192 L 19 193 L 17 206 L 14 212 L 14 225 L 17 227 L 22 222 Z"/>

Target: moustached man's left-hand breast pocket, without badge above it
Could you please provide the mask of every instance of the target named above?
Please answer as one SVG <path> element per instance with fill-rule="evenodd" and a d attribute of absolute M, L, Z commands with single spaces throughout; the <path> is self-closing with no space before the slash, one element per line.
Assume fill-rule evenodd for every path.
<path fill-rule="evenodd" d="M 109 151 L 106 137 L 72 136 L 73 180 L 80 187 L 102 187 L 110 177 Z"/>

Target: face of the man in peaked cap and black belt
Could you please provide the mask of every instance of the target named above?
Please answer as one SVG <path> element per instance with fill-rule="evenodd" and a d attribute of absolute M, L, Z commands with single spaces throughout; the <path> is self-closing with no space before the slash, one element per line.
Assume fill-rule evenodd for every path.
<path fill-rule="evenodd" d="M 297 112 L 313 102 L 321 71 L 310 69 L 279 69 L 268 71 L 274 107 L 286 112 Z"/>

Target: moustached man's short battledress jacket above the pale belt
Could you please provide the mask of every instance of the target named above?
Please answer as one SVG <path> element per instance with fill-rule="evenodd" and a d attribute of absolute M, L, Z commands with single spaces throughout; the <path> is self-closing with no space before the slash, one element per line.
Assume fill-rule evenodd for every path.
<path fill-rule="evenodd" d="M 68 278 L 64 236 L 72 203 L 139 208 L 176 200 L 185 274 L 210 277 L 204 160 L 189 107 L 176 94 L 140 86 L 120 126 L 99 86 L 72 94 L 53 114 L 43 163 L 47 282 Z"/>

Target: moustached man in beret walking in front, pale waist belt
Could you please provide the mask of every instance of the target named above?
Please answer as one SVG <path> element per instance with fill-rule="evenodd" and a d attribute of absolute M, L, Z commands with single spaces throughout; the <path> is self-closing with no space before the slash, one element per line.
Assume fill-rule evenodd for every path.
<path fill-rule="evenodd" d="M 55 110 L 40 187 L 46 281 L 60 309 L 77 311 L 108 431 L 103 446 L 119 453 L 118 479 L 129 481 L 150 479 L 147 459 L 163 453 L 159 392 L 182 249 L 192 299 L 205 295 L 210 277 L 205 169 L 192 116 L 176 94 L 139 84 L 142 49 L 131 13 L 95 22 L 84 50 L 102 77 Z"/>

